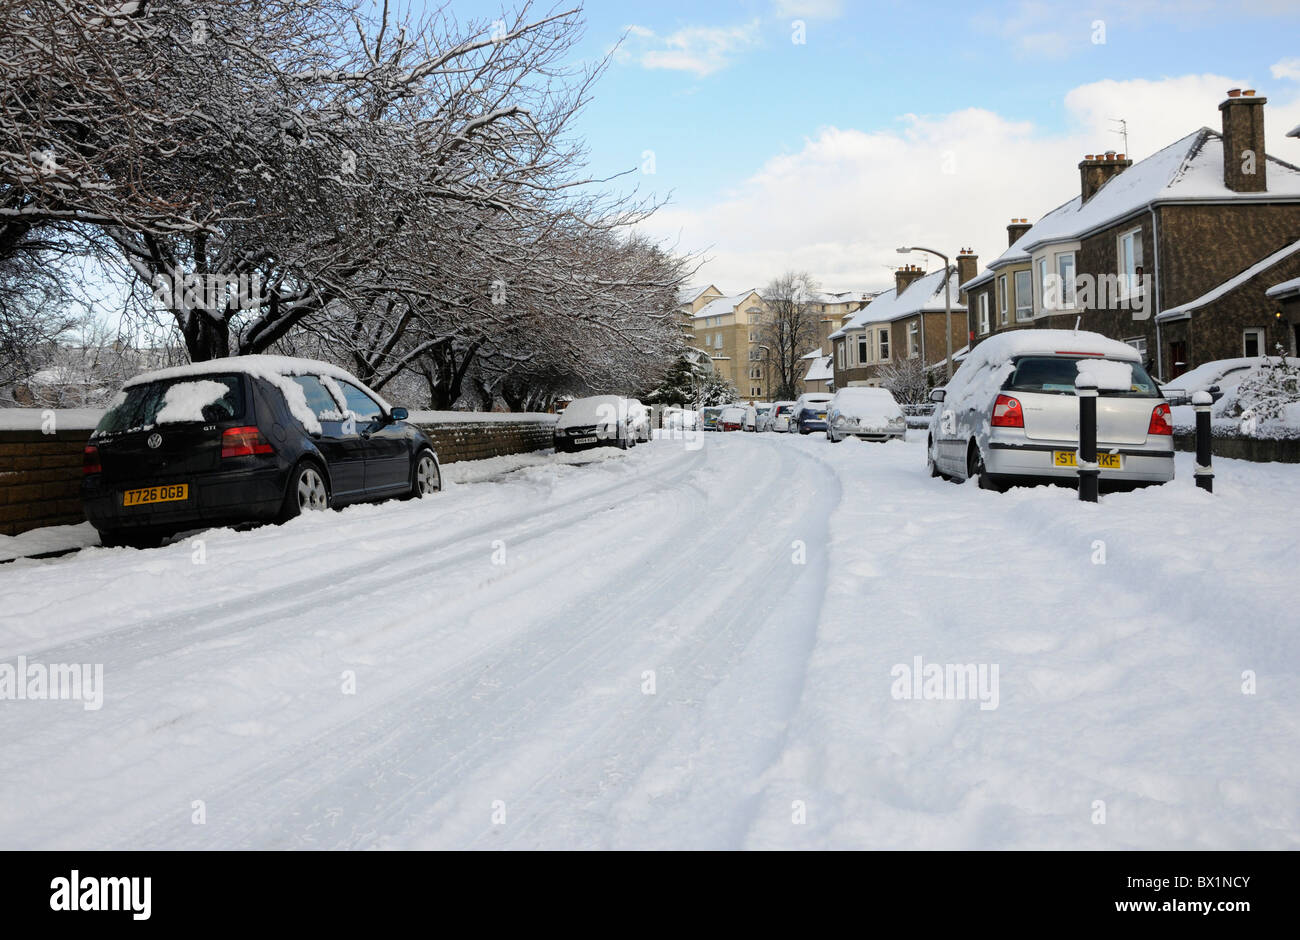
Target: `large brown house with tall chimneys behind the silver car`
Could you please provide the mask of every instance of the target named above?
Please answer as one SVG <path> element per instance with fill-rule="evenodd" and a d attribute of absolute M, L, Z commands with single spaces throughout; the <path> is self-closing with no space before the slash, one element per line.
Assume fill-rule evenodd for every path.
<path fill-rule="evenodd" d="M 962 283 L 972 307 L 994 312 L 987 325 L 972 317 L 975 341 L 1078 319 L 1138 347 L 1166 381 L 1277 343 L 1295 352 L 1295 328 L 1266 291 L 1300 276 L 1300 168 L 1265 153 L 1266 101 L 1234 88 L 1219 131 L 1201 127 L 1136 164 L 1088 155 L 1079 195 L 1023 231 L 1009 226 L 1010 247 Z"/>

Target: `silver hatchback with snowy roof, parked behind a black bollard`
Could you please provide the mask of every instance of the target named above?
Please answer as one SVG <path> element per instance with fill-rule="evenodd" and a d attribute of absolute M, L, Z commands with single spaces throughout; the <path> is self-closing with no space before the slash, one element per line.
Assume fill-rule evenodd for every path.
<path fill-rule="evenodd" d="M 932 476 L 982 488 L 1078 482 L 1075 378 L 1097 380 L 1097 463 L 1104 489 L 1174 478 L 1169 403 L 1134 347 L 1083 330 L 1010 330 L 967 355 L 942 389 L 926 445 Z"/>

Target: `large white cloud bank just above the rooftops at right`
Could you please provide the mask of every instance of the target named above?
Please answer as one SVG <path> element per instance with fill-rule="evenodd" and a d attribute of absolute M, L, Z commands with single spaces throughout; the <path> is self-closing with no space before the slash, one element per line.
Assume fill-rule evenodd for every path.
<path fill-rule="evenodd" d="M 723 290 L 790 268 L 826 287 L 889 286 L 902 243 L 971 247 L 987 263 L 1006 248 L 1013 216 L 1034 221 L 1078 194 L 1084 153 L 1122 150 L 1109 118 L 1128 121 L 1130 156 L 1141 159 L 1197 127 L 1217 129 L 1218 103 L 1236 86 L 1252 87 L 1222 75 L 1079 86 L 1065 96 L 1063 133 L 975 108 L 904 114 L 880 130 L 824 127 L 712 204 L 670 205 L 646 230 L 707 250 L 698 280 Z M 1300 163 L 1300 143 L 1284 137 L 1297 122 L 1300 94 L 1274 94 L 1270 153 Z"/>

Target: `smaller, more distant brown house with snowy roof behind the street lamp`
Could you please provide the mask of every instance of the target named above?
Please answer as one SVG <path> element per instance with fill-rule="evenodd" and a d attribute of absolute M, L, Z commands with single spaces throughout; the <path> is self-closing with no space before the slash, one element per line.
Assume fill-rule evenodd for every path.
<path fill-rule="evenodd" d="M 894 287 L 876 295 L 841 329 L 829 337 L 835 387 L 880 385 L 881 372 L 907 359 L 920 359 L 927 368 L 948 358 L 944 295 L 952 291 L 953 351 L 967 343 L 966 302 L 958 290 L 961 277 L 974 276 L 978 259 L 958 255 L 957 265 L 926 273 L 914 264 L 894 272 Z"/>

